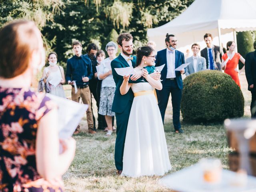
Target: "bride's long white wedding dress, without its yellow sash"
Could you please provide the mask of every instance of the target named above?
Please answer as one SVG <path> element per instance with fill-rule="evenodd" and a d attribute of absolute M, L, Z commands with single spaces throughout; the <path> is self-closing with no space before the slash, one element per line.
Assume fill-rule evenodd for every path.
<path fill-rule="evenodd" d="M 134 93 L 153 90 L 148 83 L 131 86 Z M 171 170 L 164 126 L 154 94 L 135 96 L 123 156 L 123 176 L 162 176 Z"/>

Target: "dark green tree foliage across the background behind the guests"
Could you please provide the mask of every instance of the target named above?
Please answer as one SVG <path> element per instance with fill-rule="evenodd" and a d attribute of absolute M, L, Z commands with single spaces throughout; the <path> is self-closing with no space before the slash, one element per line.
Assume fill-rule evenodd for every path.
<path fill-rule="evenodd" d="M 0 26 L 14 18 L 34 20 L 48 50 L 55 50 L 65 67 L 66 60 L 73 54 L 72 41 L 80 40 L 84 50 L 90 42 L 104 50 L 106 43 L 113 40 L 111 34 L 130 32 L 136 49 L 146 44 L 148 28 L 166 24 L 193 1 L 0 0 Z"/>

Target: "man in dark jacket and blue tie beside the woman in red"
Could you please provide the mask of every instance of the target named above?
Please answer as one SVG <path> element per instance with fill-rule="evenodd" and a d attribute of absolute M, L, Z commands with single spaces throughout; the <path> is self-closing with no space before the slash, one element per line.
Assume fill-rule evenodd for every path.
<path fill-rule="evenodd" d="M 212 34 L 206 33 L 204 41 L 206 48 L 201 51 L 201 56 L 206 59 L 206 69 L 221 71 L 221 52 L 220 47 L 212 44 Z"/>

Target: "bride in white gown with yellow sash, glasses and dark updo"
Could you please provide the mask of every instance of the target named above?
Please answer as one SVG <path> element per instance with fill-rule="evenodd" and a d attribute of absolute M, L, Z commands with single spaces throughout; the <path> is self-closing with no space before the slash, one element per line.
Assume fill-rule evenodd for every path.
<path fill-rule="evenodd" d="M 126 94 L 130 88 L 134 100 L 130 111 L 123 156 L 123 176 L 162 176 L 171 170 L 164 126 L 154 88 L 161 90 L 162 84 L 148 73 L 154 72 L 154 50 L 149 46 L 138 48 L 134 70 L 143 70 L 147 82 L 130 84 L 130 75 L 124 76 L 120 93 Z"/>

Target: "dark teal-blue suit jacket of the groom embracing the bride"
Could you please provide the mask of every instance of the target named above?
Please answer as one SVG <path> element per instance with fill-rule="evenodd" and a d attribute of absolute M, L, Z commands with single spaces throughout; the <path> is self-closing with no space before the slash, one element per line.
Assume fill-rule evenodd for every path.
<path fill-rule="evenodd" d="M 133 57 L 132 60 L 132 66 L 136 66 L 136 56 Z M 121 54 L 111 62 L 111 68 L 112 68 L 112 74 L 114 81 L 116 83 L 116 91 L 114 95 L 114 100 L 112 104 L 112 111 L 116 113 L 122 113 L 124 109 L 126 108 L 129 100 L 133 101 L 134 94 L 132 92 L 132 89 L 130 88 L 129 91 L 125 95 L 120 94 L 120 86 L 123 83 L 123 76 L 120 76 L 116 73 L 116 70 L 114 68 L 124 68 L 129 67 L 129 64 L 126 62 L 126 60 L 122 57 Z M 135 81 L 129 80 L 129 83 L 132 83 Z"/>

